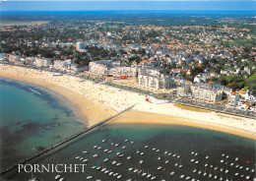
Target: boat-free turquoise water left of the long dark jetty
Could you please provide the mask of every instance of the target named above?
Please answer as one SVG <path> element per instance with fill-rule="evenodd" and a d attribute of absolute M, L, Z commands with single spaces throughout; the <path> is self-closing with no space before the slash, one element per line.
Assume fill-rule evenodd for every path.
<path fill-rule="evenodd" d="M 1 168 L 84 126 L 71 108 L 47 91 L 6 79 L 0 79 L 0 88 Z"/>

